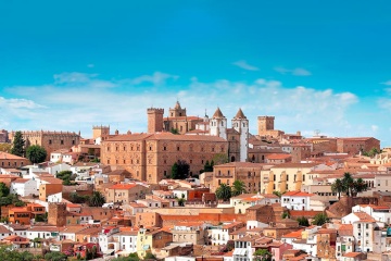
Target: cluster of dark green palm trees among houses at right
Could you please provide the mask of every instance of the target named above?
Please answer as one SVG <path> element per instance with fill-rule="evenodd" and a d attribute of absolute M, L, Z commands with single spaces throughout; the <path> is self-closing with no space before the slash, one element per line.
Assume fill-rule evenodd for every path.
<path fill-rule="evenodd" d="M 346 172 L 343 174 L 342 179 L 337 178 L 331 185 L 331 189 L 338 192 L 338 198 L 341 197 L 341 192 L 345 192 L 346 196 L 357 196 L 358 192 L 363 192 L 368 189 L 368 185 L 363 178 L 353 178 L 352 175 Z"/>

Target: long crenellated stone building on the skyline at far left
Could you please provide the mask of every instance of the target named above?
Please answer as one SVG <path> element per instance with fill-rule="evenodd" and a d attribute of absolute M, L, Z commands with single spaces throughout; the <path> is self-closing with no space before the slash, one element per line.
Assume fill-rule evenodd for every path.
<path fill-rule="evenodd" d="M 70 132 L 22 132 L 25 146 L 28 148 L 31 145 L 39 145 L 47 151 L 47 160 L 50 159 L 50 153 L 60 149 L 71 149 L 72 146 L 80 142 L 80 134 Z M 10 139 L 13 141 L 15 132 L 10 133 Z"/>

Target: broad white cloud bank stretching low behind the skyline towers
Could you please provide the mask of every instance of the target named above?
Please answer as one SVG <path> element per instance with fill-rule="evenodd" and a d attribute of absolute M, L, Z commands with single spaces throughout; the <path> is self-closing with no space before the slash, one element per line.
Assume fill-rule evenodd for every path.
<path fill-rule="evenodd" d="M 352 127 L 346 111 L 358 102 L 352 92 L 316 90 L 305 86 L 288 88 L 281 82 L 264 78 L 252 83 L 227 79 L 202 83 L 192 77 L 187 85 L 176 88 L 180 90 L 156 88 L 165 80 L 176 78 L 164 73 L 117 80 L 103 80 L 98 75 L 59 74 L 49 85 L 10 88 L 10 92 L 18 97 L 15 101 L 7 100 L 7 103 L 18 105 L 2 107 L 4 98 L 0 99 L 2 115 L 14 111 L 12 116 L 0 117 L 0 122 L 11 123 L 12 129 L 81 129 L 85 137 L 91 136 L 90 129 L 94 124 L 111 124 L 121 133 L 127 129 L 146 132 L 147 108 L 164 108 L 167 113 L 168 108 L 173 108 L 179 99 L 189 115 L 202 116 L 205 109 L 212 115 L 219 105 L 229 120 L 242 108 L 254 134 L 260 115 L 275 115 L 276 128 L 287 132 L 320 129 L 321 133 L 338 134 L 340 129 Z M 142 87 L 142 92 L 136 92 L 137 88 L 133 87 L 146 82 L 153 86 Z M 119 89 L 122 92 L 117 88 L 97 89 L 97 83 L 105 83 L 106 86 L 126 83 L 126 89 Z M 21 119 L 25 121 L 21 122 Z"/>

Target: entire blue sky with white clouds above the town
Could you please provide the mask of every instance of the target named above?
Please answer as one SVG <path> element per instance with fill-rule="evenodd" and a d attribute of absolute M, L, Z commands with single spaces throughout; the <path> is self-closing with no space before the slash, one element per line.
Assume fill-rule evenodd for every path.
<path fill-rule="evenodd" d="M 389 1 L 0 1 L 0 129 L 147 132 L 147 108 L 391 146 Z"/>

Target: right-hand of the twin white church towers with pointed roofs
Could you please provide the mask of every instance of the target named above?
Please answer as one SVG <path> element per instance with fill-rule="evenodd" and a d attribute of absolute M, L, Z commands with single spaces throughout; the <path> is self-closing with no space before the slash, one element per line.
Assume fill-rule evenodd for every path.
<path fill-rule="evenodd" d="M 240 161 L 245 162 L 249 153 L 249 120 L 241 109 L 231 121 L 232 128 L 240 134 Z"/>

